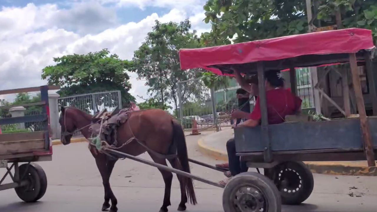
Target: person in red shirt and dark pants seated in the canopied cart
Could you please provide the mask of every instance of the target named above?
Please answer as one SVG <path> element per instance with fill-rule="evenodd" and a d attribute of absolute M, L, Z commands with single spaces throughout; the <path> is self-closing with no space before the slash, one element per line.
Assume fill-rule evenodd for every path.
<path fill-rule="evenodd" d="M 242 80 L 239 79 L 241 75 L 235 71 L 236 79 L 241 84 L 242 88 L 250 88 L 253 92 L 252 86 L 245 86 L 242 84 Z M 242 78 L 242 77 L 241 77 Z M 284 89 L 284 79 L 280 76 L 280 71 L 267 71 L 265 72 L 265 89 L 267 100 L 267 116 L 268 124 L 280 124 L 284 122 L 286 115 L 294 115 L 300 111 L 302 100 L 299 97 L 294 96 L 289 90 Z M 255 92 L 253 92 L 255 94 Z M 261 107 L 259 98 L 256 100 L 255 107 L 250 113 L 243 111 L 234 111 L 231 118 L 247 118 L 237 127 L 256 127 L 261 122 Z M 241 172 L 247 171 L 245 163 L 240 163 L 239 156 L 236 155 L 236 145 L 234 139 L 230 139 L 227 142 L 227 152 L 230 173 L 226 174 L 227 177 L 235 176 Z M 230 175 L 230 176 L 229 176 Z M 220 181 L 221 184 L 227 184 L 229 178 Z"/>

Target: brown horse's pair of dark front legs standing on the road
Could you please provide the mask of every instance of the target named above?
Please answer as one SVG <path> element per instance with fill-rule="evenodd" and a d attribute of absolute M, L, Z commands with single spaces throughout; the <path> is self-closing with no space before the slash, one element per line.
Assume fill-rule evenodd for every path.
<path fill-rule="evenodd" d="M 95 162 L 98 167 L 98 171 L 100 171 L 102 177 L 103 188 L 105 192 L 105 200 L 102 205 L 102 210 L 107 210 L 110 207 L 109 201 L 111 199 L 111 212 L 118 211 L 116 204 L 118 204 L 118 200 L 116 200 L 115 195 L 113 194 L 111 187 L 110 187 L 110 175 L 113 170 L 114 164 L 116 161 L 108 161 L 106 155 L 98 154 L 95 157 Z"/>

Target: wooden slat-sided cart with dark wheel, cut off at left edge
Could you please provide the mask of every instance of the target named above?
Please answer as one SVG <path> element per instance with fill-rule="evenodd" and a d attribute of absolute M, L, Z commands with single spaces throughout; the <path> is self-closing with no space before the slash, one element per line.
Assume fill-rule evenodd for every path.
<path fill-rule="evenodd" d="M 23 105 L 1 106 L 10 109 L 20 106 L 41 106 L 42 113 L 32 116 L 0 118 L 0 125 L 38 121 L 43 131 L 0 134 L 0 168 L 6 172 L 0 176 L 0 190 L 15 189 L 18 197 L 25 202 L 34 202 L 43 197 L 47 189 L 47 178 L 37 161 L 52 160 L 52 142 L 49 129 L 48 90 L 59 86 L 41 86 L 0 91 L 0 95 L 21 92 L 41 92 L 41 101 Z M 22 163 L 22 164 L 20 164 Z M 4 183 L 6 179 L 11 180 Z"/>

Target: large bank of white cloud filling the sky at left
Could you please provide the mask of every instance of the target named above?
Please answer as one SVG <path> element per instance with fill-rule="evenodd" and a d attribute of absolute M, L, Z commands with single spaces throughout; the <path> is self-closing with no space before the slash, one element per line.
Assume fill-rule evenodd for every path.
<path fill-rule="evenodd" d="M 45 84 L 41 80 L 41 70 L 54 64 L 53 57 L 65 54 L 86 54 L 108 48 L 120 58 L 130 60 L 156 19 L 161 22 L 179 22 L 188 16 L 185 10 L 173 8 L 161 17 L 154 13 L 138 23 L 115 26 L 116 17 L 108 16 L 111 8 L 96 3 L 88 4 L 75 3 L 72 9 L 58 9 L 58 6 L 51 4 L 2 8 L 0 90 Z M 168 1 L 162 1 L 161 4 L 168 4 Z M 76 19 L 80 17 L 82 19 Z M 199 14 L 190 18 L 193 28 L 202 28 L 200 19 L 202 16 Z M 98 23 L 98 27 L 95 27 L 95 23 Z M 101 31 L 96 32 L 98 29 Z M 136 98 L 137 95 L 146 98 L 148 87 L 144 81 L 137 80 L 135 73 L 129 75 L 132 83 L 130 93 Z M 140 98 L 137 100 L 142 101 Z"/>

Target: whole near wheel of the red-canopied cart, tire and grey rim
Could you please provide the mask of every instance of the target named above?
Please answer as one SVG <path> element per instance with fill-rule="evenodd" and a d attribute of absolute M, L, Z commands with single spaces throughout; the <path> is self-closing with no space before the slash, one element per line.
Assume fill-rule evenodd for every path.
<path fill-rule="evenodd" d="M 225 212 L 281 212 L 281 197 L 270 179 L 245 172 L 225 186 L 222 207 Z"/>

